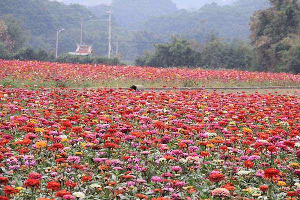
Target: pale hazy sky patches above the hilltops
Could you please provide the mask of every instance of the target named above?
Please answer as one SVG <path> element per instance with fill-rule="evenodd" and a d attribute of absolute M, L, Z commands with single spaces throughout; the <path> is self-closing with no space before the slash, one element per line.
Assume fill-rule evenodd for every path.
<path fill-rule="evenodd" d="M 112 0 L 59 0 L 63 1 L 64 3 L 79 3 L 84 4 L 87 6 L 97 5 L 100 3 L 110 3 Z M 202 5 L 206 3 L 211 3 L 213 1 L 219 3 L 231 3 L 235 0 L 172 0 L 174 3 L 177 4 L 177 7 L 180 8 L 200 8 Z"/>

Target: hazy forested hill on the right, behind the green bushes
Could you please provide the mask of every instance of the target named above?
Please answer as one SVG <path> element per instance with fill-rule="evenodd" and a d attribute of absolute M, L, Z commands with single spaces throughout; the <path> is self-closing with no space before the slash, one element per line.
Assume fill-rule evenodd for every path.
<path fill-rule="evenodd" d="M 247 38 L 249 18 L 268 6 L 267 0 L 239 0 L 231 5 L 205 4 L 196 11 L 181 9 L 145 22 L 143 29 L 161 34 L 183 34 L 203 41 L 211 32 L 225 38 Z"/>

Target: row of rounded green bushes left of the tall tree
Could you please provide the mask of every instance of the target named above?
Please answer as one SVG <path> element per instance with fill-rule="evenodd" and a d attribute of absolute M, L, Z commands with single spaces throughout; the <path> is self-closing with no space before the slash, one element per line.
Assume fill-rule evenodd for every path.
<path fill-rule="evenodd" d="M 153 53 L 146 52 L 143 57 L 137 56 L 135 64 L 249 69 L 252 59 L 252 47 L 240 40 L 227 43 L 221 38 L 211 36 L 201 45 L 172 37 L 172 42 L 155 45 Z"/>

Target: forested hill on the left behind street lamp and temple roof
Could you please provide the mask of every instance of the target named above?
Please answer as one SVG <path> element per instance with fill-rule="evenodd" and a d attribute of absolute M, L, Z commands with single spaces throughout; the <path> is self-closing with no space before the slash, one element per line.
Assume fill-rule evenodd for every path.
<path fill-rule="evenodd" d="M 27 44 L 34 48 L 43 47 L 53 51 L 56 30 L 64 28 L 65 31 L 59 35 L 58 49 L 60 52 L 73 51 L 76 47 L 74 40 L 80 40 L 81 17 L 85 22 L 83 35 L 87 43 L 93 43 L 101 35 L 107 38 L 107 22 L 97 20 L 86 6 L 78 4 L 65 5 L 49 0 L 0 0 L 0 16 L 5 14 L 21 19 L 22 27 L 29 37 Z M 101 53 L 100 48 L 95 51 Z"/>

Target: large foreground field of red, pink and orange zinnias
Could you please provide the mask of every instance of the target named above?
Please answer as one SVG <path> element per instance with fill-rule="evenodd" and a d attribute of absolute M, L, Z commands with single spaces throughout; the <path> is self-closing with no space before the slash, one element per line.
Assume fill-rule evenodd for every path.
<path fill-rule="evenodd" d="M 0 199 L 298 199 L 299 104 L 296 95 L 1 87 Z"/>

